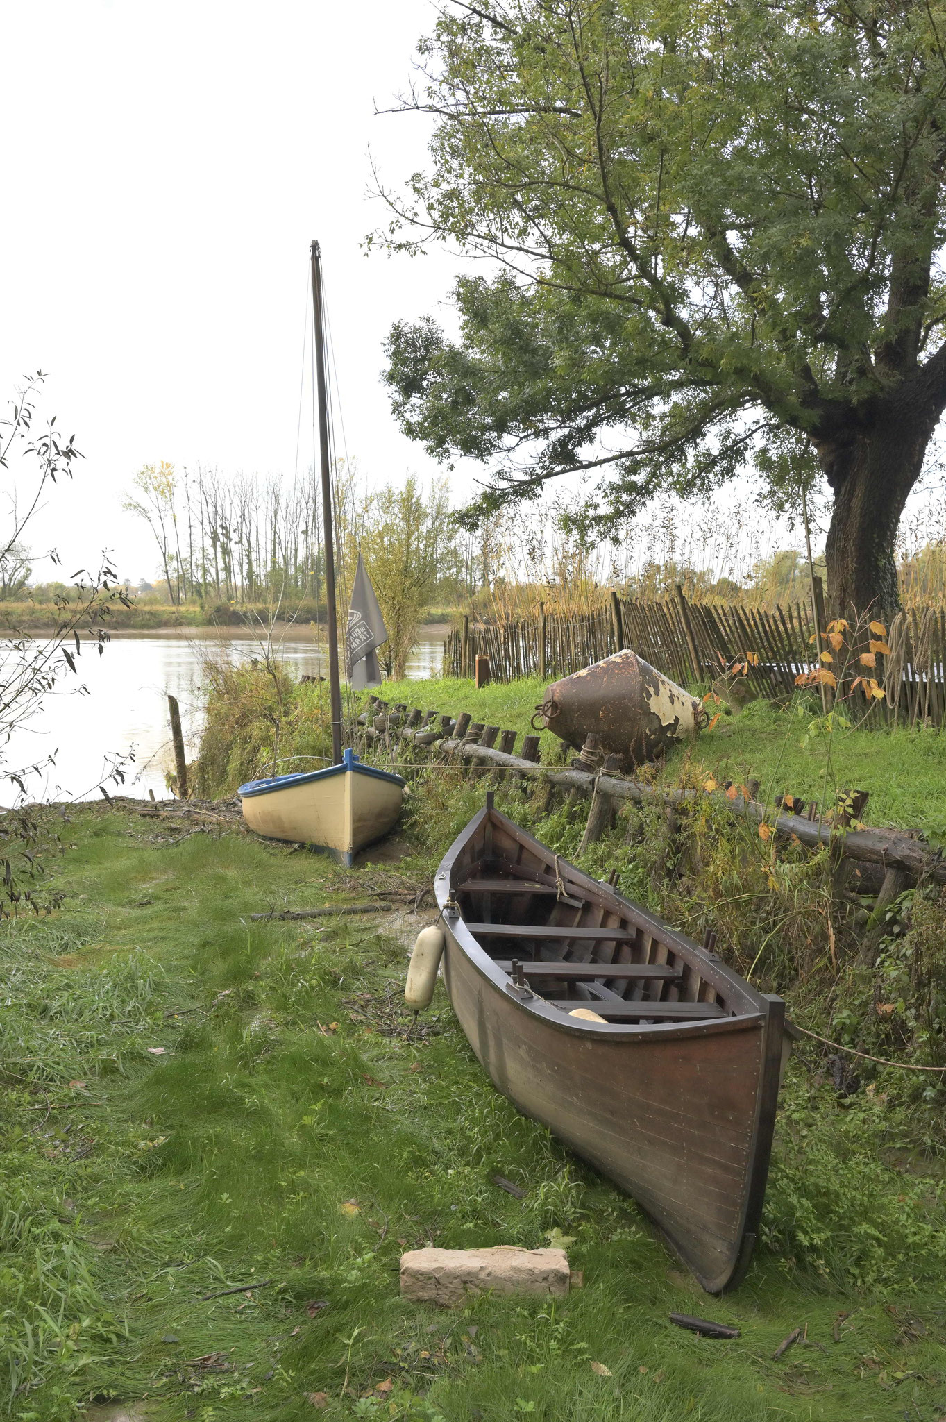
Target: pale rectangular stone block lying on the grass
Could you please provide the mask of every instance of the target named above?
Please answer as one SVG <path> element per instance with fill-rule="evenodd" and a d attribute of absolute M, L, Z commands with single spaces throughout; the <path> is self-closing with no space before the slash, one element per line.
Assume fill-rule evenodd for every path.
<path fill-rule="evenodd" d="M 401 1256 L 401 1295 L 416 1304 L 455 1308 L 472 1294 L 568 1293 L 564 1249 L 415 1249 Z"/>

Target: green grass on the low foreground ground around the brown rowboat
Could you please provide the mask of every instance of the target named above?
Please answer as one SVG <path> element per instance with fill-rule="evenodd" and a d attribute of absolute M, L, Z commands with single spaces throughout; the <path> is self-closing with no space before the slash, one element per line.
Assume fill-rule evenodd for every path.
<path fill-rule="evenodd" d="M 413 859 L 348 875 L 249 836 L 168 845 L 131 809 L 75 811 L 54 866 L 65 907 L 0 931 L 0 1415 L 148 1398 L 163 1422 L 301 1422 L 325 1394 L 334 1419 L 937 1416 L 942 1219 L 929 1180 L 879 1159 L 906 1130 L 885 1098 L 838 1102 L 794 1069 L 768 1243 L 710 1300 L 631 1202 L 490 1086 L 440 988 L 408 1032 L 411 921 L 249 921 L 419 884 L 482 786 L 440 795 L 413 802 Z M 447 1313 L 398 1295 L 405 1247 L 553 1230 L 585 1273 L 564 1303 Z M 741 1337 L 700 1340 L 670 1311 Z M 803 1325 L 810 1345 L 774 1362 Z"/>

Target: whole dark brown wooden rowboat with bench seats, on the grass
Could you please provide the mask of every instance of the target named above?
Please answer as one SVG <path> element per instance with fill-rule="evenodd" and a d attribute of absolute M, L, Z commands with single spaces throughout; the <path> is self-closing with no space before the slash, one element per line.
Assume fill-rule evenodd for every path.
<path fill-rule="evenodd" d="M 739 1284 L 766 1193 L 781 998 L 489 803 L 435 886 L 450 1003 L 496 1086 L 632 1194 L 707 1293 Z"/>

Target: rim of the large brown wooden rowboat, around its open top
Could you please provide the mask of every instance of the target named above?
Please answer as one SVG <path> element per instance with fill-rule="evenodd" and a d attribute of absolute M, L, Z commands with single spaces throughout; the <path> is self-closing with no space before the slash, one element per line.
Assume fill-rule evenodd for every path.
<path fill-rule="evenodd" d="M 509 984 L 511 980 L 509 974 L 504 973 L 501 968 L 499 968 L 496 960 L 491 958 L 489 953 L 486 953 L 486 950 L 477 943 L 477 940 L 470 933 L 463 914 L 459 912 L 452 913 L 450 909 L 447 907 L 447 904 L 452 902 L 455 892 L 452 880 L 453 880 L 453 866 L 456 863 L 456 859 L 460 855 L 460 852 L 466 848 L 466 845 L 470 842 L 470 839 L 476 835 L 476 830 L 480 828 L 486 816 L 493 816 L 494 822 L 500 822 L 504 826 L 511 828 L 514 830 L 514 838 L 518 839 L 521 843 L 526 843 L 527 848 L 534 846 L 535 850 L 544 850 L 545 853 L 548 852 L 545 850 L 545 846 L 543 846 L 537 839 L 533 839 L 531 835 L 527 835 L 526 830 L 523 830 L 518 825 L 516 825 L 514 820 L 509 819 L 500 811 L 484 806 L 464 826 L 462 833 L 457 835 L 455 842 L 450 845 L 450 849 L 440 860 L 440 866 L 435 876 L 435 896 L 443 919 L 443 924 L 449 930 L 449 934 L 456 943 L 457 948 L 467 957 L 467 960 L 477 970 L 477 973 L 489 981 L 490 987 L 493 987 L 494 991 L 500 993 L 504 1000 L 509 1000 L 510 1003 L 514 1003 L 524 1011 L 533 1012 L 533 1015 L 543 1018 L 550 1027 L 558 1031 L 571 1032 L 577 1035 L 598 1037 L 598 1038 L 615 1038 L 618 1041 L 652 1042 L 655 1039 L 666 1041 L 675 1038 L 709 1037 L 709 1035 L 716 1035 L 719 1032 L 747 1031 L 764 1025 L 768 1014 L 767 998 L 756 993 L 756 990 L 749 983 L 746 983 L 744 978 L 741 978 L 732 968 L 727 968 L 726 964 L 710 960 L 709 956 L 705 953 L 703 948 L 700 948 L 697 943 L 693 943 L 692 939 L 687 939 L 686 934 L 679 933 L 676 929 L 672 929 L 670 931 L 675 934 L 675 937 L 678 937 L 682 941 L 686 953 L 693 956 L 693 961 L 690 966 L 706 967 L 706 973 L 705 974 L 700 973 L 703 980 L 714 987 L 713 977 L 723 978 L 726 981 L 726 987 L 730 988 L 733 993 L 737 993 L 744 998 L 747 997 L 750 1001 L 756 1000 L 757 1005 L 753 1005 L 751 1011 L 733 1012 L 732 1015 L 726 1017 L 693 1018 L 685 1022 L 626 1022 L 626 1024 L 592 1022 L 588 1021 L 587 1018 L 571 1017 L 561 1008 L 553 1007 L 545 998 L 540 997 L 535 993 L 533 993 L 531 997 L 524 998 L 520 997 L 518 991 L 510 991 Z M 592 893 L 598 902 L 608 903 L 611 900 L 616 900 L 614 912 L 621 912 L 621 907 L 626 904 L 634 916 L 639 914 L 648 924 L 653 924 L 656 930 L 666 931 L 669 929 L 669 924 L 662 923 L 653 914 L 648 913 L 648 910 L 643 909 L 641 904 L 634 903 L 634 900 L 625 899 L 624 894 L 619 894 L 616 892 L 616 889 L 611 889 L 609 886 L 599 883 L 599 880 L 591 879 L 589 875 L 585 875 L 581 869 L 577 869 L 568 860 L 558 857 L 558 865 L 560 869 L 567 870 L 570 875 L 574 875 L 578 882 L 577 886 L 581 887 L 582 892 L 588 890 L 589 893 Z M 523 883 L 527 886 L 528 880 L 523 880 Z M 460 887 L 463 886 L 462 884 L 456 886 L 457 890 Z M 527 887 L 524 887 L 523 892 L 528 892 Z M 602 970 L 601 977 L 607 977 L 608 964 L 602 963 L 601 970 Z M 591 1010 L 594 1011 L 595 1004 L 585 1003 L 577 998 L 575 1007 L 591 1007 Z"/>

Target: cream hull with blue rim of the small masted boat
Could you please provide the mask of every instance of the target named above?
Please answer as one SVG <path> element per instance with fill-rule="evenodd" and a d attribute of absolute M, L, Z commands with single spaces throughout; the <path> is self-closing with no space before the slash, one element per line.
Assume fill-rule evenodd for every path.
<path fill-rule="evenodd" d="M 250 781 L 237 791 L 243 819 L 259 835 L 327 849 L 351 865 L 365 845 L 382 839 L 403 805 L 405 781 L 345 751 L 338 765 L 301 775 Z"/>

